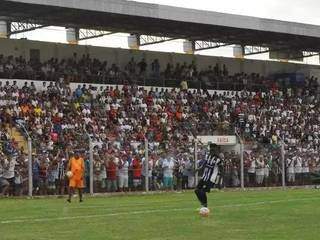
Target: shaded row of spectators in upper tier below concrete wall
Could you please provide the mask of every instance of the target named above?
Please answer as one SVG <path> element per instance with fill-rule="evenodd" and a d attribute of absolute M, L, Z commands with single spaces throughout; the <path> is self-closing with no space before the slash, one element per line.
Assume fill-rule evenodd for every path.
<path fill-rule="evenodd" d="M 216 90 L 266 91 L 270 88 L 286 89 L 296 87 L 287 79 L 273 80 L 252 73 L 230 74 L 225 64 L 213 64 L 200 68 L 196 62 L 168 63 L 161 66 L 158 59 L 148 63 L 144 58 L 131 58 L 124 66 L 109 63 L 89 54 L 68 59 L 51 58 L 47 61 L 27 61 L 23 57 L 0 55 L 0 78 L 30 79 L 101 84 L 138 84 L 148 86 L 168 86 Z M 309 89 L 318 87 L 316 78 L 307 79 Z"/>

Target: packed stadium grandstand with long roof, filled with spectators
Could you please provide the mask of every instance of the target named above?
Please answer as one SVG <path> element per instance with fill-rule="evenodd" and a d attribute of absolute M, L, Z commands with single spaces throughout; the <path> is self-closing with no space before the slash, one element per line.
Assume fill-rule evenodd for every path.
<path fill-rule="evenodd" d="M 127 1 L 5 0 L 0 16 L 5 194 L 63 194 L 76 150 L 87 192 L 193 188 L 203 136 L 236 138 L 223 146 L 220 187 L 314 182 L 319 67 L 244 56 L 318 55 L 320 27 Z M 66 27 L 69 44 L 10 39 L 50 25 Z M 77 45 L 116 32 L 131 49 Z M 173 39 L 188 54 L 138 50 Z M 235 58 L 193 55 L 229 45 Z"/>

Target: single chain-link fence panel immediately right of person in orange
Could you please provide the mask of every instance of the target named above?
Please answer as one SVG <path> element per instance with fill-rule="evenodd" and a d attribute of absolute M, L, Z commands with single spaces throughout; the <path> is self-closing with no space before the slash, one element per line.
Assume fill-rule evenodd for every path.
<path fill-rule="evenodd" d="M 93 142 L 93 192 L 129 192 L 146 190 L 145 143 L 122 144 Z M 90 192 L 90 153 L 86 157 L 86 190 Z"/>

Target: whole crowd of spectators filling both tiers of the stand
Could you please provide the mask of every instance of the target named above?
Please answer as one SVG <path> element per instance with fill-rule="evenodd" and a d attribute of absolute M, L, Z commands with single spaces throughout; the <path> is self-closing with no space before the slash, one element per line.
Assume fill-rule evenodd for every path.
<path fill-rule="evenodd" d="M 248 146 L 252 145 L 245 154 L 248 185 L 279 182 L 282 142 L 286 145 L 290 183 L 308 182 L 309 173 L 318 171 L 320 105 L 315 78 L 308 79 L 300 88 L 284 82 L 283 90 L 281 84 L 272 82 L 265 84 L 267 91 L 253 93 L 245 87 L 242 91 L 225 91 L 220 95 L 185 87 L 180 90 L 154 87 L 147 91 L 132 82 L 122 88 L 106 85 L 96 88 L 89 84 L 70 88 L 70 81 L 81 82 L 86 81 L 81 79 L 84 76 L 91 79 L 94 75 L 96 79 L 99 74 L 109 74 L 107 66 L 106 62 L 91 60 L 89 56 L 79 60 L 76 55 L 73 60 L 51 59 L 40 65 L 26 63 L 23 58 L 0 56 L 0 77 L 54 80 L 54 83 L 43 82 L 38 89 L 33 83 L 26 82 L 19 88 L 16 82 L 0 82 L 0 178 L 16 186 L 8 191 L 21 194 L 27 179 L 26 150 L 19 149 L 8 133 L 17 122 L 26 126 L 33 139 L 33 182 L 38 194 L 64 193 L 66 162 L 76 150 L 83 151 L 85 157 L 88 188 L 89 158 L 84 150 L 88 137 L 95 145 L 95 191 L 140 190 L 147 172 L 151 189 L 192 188 L 194 136 L 226 135 L 234 131 Z M 144 59 L 139 63 L 131 59 L 123 77 L 144 76 L 147 67 Z M 119 73 L 115 65 L 110 69 Z M 168 64 L 162 73 L 157 60 L 152 63 L 152 74 L 187 79 L 210 76 L 230 81 L 239 78 L 243 85 L 248 85 L 249 79 L 266 81 L 258 75 L 231 77 L 225 66 L 221 71 L 216 66 L 206 73 L 198 73 L 194 63 L 175 67 Z M 144 169 L 145 139 L 149 142 L 149 171 Z M 201 161 L 204 155 L 201 152 L 198 159 Z M 239 156 L 225 152 L 223 158 L 225 169 L 220 184 L 239 186 Z"/>

